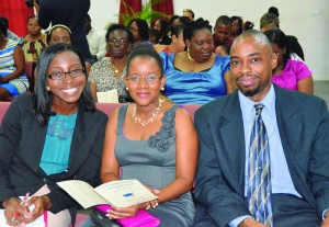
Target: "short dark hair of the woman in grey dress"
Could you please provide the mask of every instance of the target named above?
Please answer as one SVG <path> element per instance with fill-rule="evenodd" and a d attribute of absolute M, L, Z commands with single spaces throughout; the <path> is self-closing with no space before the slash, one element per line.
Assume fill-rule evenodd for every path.
<path fill-rule="evenodd" d="M 145 45 L 145 44 L 140 44 L 140 45 L 136 46 L 133 49 L 133 52 L 131 53 L 131 55 L 128 56 L 127 73 L 129 73 L 129 68 L 131 68 L 132 61 L 137 57 L 150 57 L 150 58 L 155 59 L 161 71 L 161 77 L 164 75 L 162 59 L 161 59 L 160 55 L 152 47 Z M 126 75 L 126 77 L 128 75 Z"/>

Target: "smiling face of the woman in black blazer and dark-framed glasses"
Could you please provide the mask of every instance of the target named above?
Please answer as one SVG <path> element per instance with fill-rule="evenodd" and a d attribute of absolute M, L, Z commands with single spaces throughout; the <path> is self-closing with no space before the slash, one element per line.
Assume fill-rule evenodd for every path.
<path fill-rule="evenodd" d="M 47 75 L 55 72 L 68 72 L 82 69 L 80 58 L 73 52 L 67 50 L 54 57 L 46 71 Z M 86 87 L 86 75 L 71 78 L 68 73 L 63 80 L 47 79 L 47 90 L 53 93 L 53 107 L 65 109 L 77 105 L 78 100 Z"/>

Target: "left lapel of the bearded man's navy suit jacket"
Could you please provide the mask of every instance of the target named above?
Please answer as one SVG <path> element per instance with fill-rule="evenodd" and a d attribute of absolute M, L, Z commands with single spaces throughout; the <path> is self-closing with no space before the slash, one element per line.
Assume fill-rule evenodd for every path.
<path fill-rule="evenodd" d="M 230 186 L 243 195 L 246 145 L 238 92 L 229 99 L 223 110 L 223 117 L 218 122 L 217 134 L 215 134 L 219 135 L 219 140 L 216 143 L 220 150 L 218 161 L 223 171 L 227 171 L 224 175 L 228 175 L 227 181 Z"/>

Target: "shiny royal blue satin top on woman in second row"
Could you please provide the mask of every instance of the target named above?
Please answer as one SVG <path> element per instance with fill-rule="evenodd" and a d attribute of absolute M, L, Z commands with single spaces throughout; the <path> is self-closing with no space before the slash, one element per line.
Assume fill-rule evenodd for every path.
<path fill-rule="evenodd" d="M 160 54 L 167 81 L 164 95 L 177 104 L 205 104 L 227 93 L 224 73 L 229 70 L 229 57 L 217 55 L 212 68 L 204 71 L 181 71 L 174 67 L 174 54 Z"/>

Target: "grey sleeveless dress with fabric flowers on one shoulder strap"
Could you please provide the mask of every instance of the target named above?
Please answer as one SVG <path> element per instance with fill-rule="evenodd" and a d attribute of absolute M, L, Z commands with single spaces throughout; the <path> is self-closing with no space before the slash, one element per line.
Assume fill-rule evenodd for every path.
<path fill-rule="evenodd" d="M 123 123 L 127 105 L 118 110 L 115 157 L 122 168 L 121 179 L 137 179 L 151 189 L 162 189 L 175 179 L 174 116 L 178 106 L 167 110 L 158 133 L 148 140 L 131 140 L 124 136 Z M 160 226 L 192 226 L 194 204 L 188 192 L 148 211 L 161 220 Z"/>

